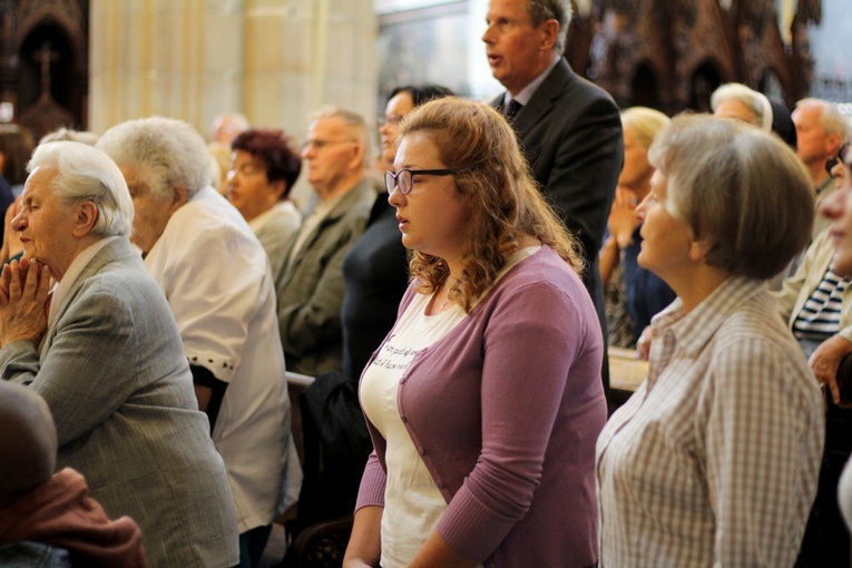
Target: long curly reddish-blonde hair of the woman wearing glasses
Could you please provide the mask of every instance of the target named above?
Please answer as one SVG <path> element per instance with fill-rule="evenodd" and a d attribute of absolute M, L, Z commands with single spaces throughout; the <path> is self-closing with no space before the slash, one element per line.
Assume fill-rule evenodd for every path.
<path fill-rule="evenodd" d="M 471 200 L 470 221 L 460 235 L 464 268 L 453 275 L 450 300 L 470 312 L 525 236 L 548 245 L 575 272 L 582 271 L 577 241 L 545 202 L 515 131 L 500 114 L 481 102 L 445 97 L 405 117 L 399 139 L 413 133 L 432 140 L 443 166 L 457 172 L 457 190 Z M 443 259 L 420 252 L 413 253 L 409 267 L 423 294 L 433 293 L 449 276 Z"/>

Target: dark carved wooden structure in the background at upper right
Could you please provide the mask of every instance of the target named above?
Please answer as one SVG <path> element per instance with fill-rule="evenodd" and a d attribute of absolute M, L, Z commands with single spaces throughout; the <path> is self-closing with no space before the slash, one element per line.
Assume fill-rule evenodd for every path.
<path fill-rule="evenodd" d="M 732 81 L 792 106 L 813 80 L 806 25 L 821 12 L 800 0 L 785 45 L 774 0 L 599 0 L 571 23 L 566 55 L 621 107 L 704 111 Z"/>

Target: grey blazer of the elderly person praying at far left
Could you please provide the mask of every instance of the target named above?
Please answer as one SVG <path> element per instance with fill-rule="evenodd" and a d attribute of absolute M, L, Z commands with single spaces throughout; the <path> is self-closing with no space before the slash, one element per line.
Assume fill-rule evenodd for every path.
<path fill-rule="evenodd" d="M 40 347 L 0 351 L 0 376 L 45 398 L 58 467 L 81 472 L 110 518 L 139 523 L 149 566 L 237 564 L 225 467 L 175 320 L 126 238 L 84 268 Z"/>

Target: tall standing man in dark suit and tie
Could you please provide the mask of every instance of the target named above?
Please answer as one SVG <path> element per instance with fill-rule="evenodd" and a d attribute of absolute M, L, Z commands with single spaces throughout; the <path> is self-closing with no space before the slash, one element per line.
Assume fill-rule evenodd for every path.
<path fill-rule="evenodd" d="M 611 97 L 561 57 L 570 17 L 567 0 L 490 0 L 482 41 L 506 87 L 491 106 L 515 126 L 533 177 L 582 247 L 606 337 L 598 251 L 624 160 L 621 121 Z"/>

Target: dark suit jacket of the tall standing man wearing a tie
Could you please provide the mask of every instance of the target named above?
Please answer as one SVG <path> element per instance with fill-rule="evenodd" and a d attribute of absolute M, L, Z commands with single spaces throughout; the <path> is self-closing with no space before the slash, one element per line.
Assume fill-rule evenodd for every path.
<path fill-rule="evenodd" d="M 502 101 L 500 95 L 491 106 L 499 108 Z M 532 176 L 579 239 L 586 261 L 582 282 L 604 323 L 598 251 L 624 161 L 618 107 L 562 58 L 515 116 L 512 126 Z"/>

